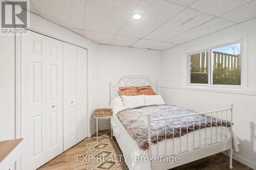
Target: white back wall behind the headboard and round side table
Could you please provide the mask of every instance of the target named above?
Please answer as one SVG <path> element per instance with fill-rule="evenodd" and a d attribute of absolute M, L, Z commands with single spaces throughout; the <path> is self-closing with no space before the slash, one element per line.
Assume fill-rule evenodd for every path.
<path fill-rule="evenodd" d="M 147 76 L 159 81 L 160 51 L 142 48 L 99 45 L 99 106 L 109 107 L 109 83 L 124 75 Z M 107 124 L 100 123 L 101 127 Z"/>

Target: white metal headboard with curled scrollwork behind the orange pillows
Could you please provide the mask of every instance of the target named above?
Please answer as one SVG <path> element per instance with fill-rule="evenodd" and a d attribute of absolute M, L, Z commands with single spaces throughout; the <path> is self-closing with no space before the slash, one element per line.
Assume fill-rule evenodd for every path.
<path fill-rule="evenodd" d="M 123 86 L 151 86 L 158 93 L 157 83 L 152 83 L 146 76 L 123 76 L 117 83 L 110 82 L 110 103 L 120 95 L 118 87 Z"/>

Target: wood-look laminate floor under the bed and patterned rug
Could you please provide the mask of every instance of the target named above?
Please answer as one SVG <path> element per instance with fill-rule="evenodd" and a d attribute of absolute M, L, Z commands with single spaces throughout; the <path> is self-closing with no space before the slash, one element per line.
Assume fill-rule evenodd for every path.
<path fill-rule="evenodd" d="M 101 133 L 104 133 L 103 131 Z M 102 137 L 100 140 L 106 139 Z M 96 141 L 96 135 L 90 138 L 86 138 L 76 144 L 74 147 L 58 155 L 54 159 L 50 160 L 46 164 L 39 167 L 37 170 L 86 170 L 86 162 L 77 162 L 77 155 L 85 155 L 85 143 Z M 212 155 L 194 162 L 187 163 L 185 165 L 173 168 L 173 170 L 222 170 L 229 169 L 229 157 L 219 153 Z M 244 164 L 233 160 L 233 170 L 249 170 L 251 168 Z"/>

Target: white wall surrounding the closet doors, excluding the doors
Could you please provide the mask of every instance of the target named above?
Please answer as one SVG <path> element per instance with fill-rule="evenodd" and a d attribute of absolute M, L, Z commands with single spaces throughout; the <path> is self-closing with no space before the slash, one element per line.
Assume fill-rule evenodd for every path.
<path fill-rule="evenodd" d="M 33 13 L 30 13 L 30 28 L 88 49 L 88 119 L 90 121 L 90 135 L 90 132 L 94 132 L 96 129 L 95 120 L 91 114 L 94 109 L 98 108 L 98 44 Z M 0 103 L 2 108 L 0 113 L 0 140 L 13 139 L 15 137 L 14 42 L 14 36 L 1 36 L 0 38 Z"/>

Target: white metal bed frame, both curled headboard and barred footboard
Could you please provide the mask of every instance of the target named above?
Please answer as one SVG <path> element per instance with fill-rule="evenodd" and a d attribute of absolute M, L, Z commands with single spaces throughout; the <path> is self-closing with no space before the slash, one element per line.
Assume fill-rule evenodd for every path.
<path fill-rule="evenodd" d="M 122 86 L 144 86 L 144 85 L 150 85 L 152 86 L 152 88 L 157 92 L 158 91 L 158 85 L 157 83 L 152 83 L 150 81 L 150 79 L 148 79 L 145 76 L 123 76 L 118 83 L 110 83 L 110 102 L 117 96 L 119 96 L 119 91 L 118 91 L 118 87 L 122 87 Z M 179 119 L 181 122 L 182 118 L 187 118 L 187 134 L 186 134 L 186 139 L 188 141 L 188 117 L 193 117 L 194 118 L 194 122 L 193 122 L 193 150 L 192 151 L 188 151 L 188 142 L 187 142 L 187 150 L 185 152 L 181 152 L 181 137 L 180 137 L 180 153 L 176 154 L 174 153 L 174 149 L 173 149 L 173 157 L 174 156 L 178 156 L 179 162 L 173 162 L 173 163 L 169 163 L 169 162 L 164 162 L 164 161 L 158 161 L 158 162 L 152 162 L 151 161 L 151 169 L 170 169 L 170 168 L 174 168 L 192 161 L 196 161 L 198 159 L 210 156 L 210 155 L 214 155 L 223 151 L 227 151 L 229 150 L 229 168 L 232 169 L 232 111 L 233 111 L 233 104 L 230 103 L 229 108 L 228 109 L 223 109 L 223 110 L 215 110 L 215 111 L 208 111 L 208 112 L 202 112 L 202 113 L 196 113 L 196 114 L 189 114 L 189 115 L 182 115 L 182 116 L 174 116 L 174 117 L 167 117 L 167 118 L 159 118 L 159 119 L 152 119 L 151 118 L 151 113 L 147 114 L 147 121 L 148 121 L 148 126 L 147 126 L 147 132 L 148 132 L 148 156 L 151 157 L 153 155 L 151 155 L 151 148 L 152 148 L 152 142 L 151 142 L 151 124 L 152 122 L 157 122 L 157 140 L 158 140 L 158 123 L 160 121 L 164 121 L 165 122 L 165 153 L 167 153 L 167 148 L 166 148 L 166 122 L 168 119 L 172 119 L 172 122 L 174 124 L 174 120 L 175 119 Z M 213 115 L 215 113 L 215 116 Z M 218 142 L 217 140 L 217 131 L 216 131 L 216 142 L 212 143 L 212 135 L 211 135 L 211 142 L 210 145 L 205 144 L 204 146 L 201 145 L 201 135 L 199 135 L 199 140 L 200 140 L 200 147 L 199 148 L 195 148 L 195 117 L 199 116 L 199 124 L 200 124 L 200 130 L 201 130 L 201 115 L 204 116 L 210 116 L 211 117 L 211 127 L 210 127 L 210 134 L 212 131 L 212 128 L 216 128 L 217 130 L 217 126 L 216 127 L 212 127 L 212 118 L 217 118 L 221 119 L 221 142 Z M 223 117 L 224 115 L 224 117 Z M 223 139 L 222 137 L 222 128 L 223 128 L 223 120 L 228 120 L 230 122 L 230 127 L 227 127 L 227 124 L 225 125 L 226 127 L 226 133 L 228 133 L 228 130 L 230 132 L 230 139 L 225 138 Z M 206 122 L 206 118 L 205 118 L 205 122 Z M 204 123 L 205 123 L 204 122 Z M 206 128 L 204 128 L 206 131 Z M 200 134 L 200 130 L 199 130 L 199 134 Z M 173 126 L 173 132 L 174 132 L 174 126 Z M 180 136 L 181 136 L 181 123 L 180 123 Z M 206 140 L 206 133 L 205 133 L 205 140 Z M 206 142 L 205 142 L 206 143 Z M 158 153 L 158 142 L 156 143 L 157 145 L 157 154 Z M 174 147 L 174 140 L 173 140 L 173 147 Z M 157 155 L 158 156 L 158 155 Z M 166 155 L 167 156 L 167 155 Z"/>

